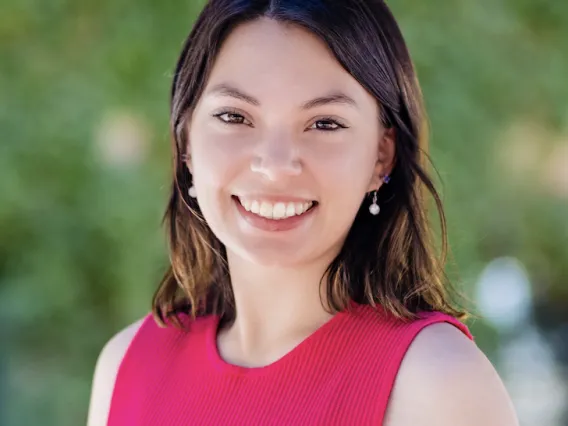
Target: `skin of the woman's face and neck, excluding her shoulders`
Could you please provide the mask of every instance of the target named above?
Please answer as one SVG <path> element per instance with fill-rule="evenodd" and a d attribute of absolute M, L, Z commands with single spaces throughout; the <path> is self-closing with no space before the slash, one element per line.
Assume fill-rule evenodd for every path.
<path fill-rule="evenodd" d="M 339 95 L 350 101 L 306 108 Z M 226 110 L 235 115 L 214 117 Z M 330 318 L 319 281 L 366 194 L 391 170 L 393 136 L 376 100 L 309 32 L 261 19 L 226 40 L 191 117 L 188 167 L 227 248 L 238 312 L 219 335 L 228 361 L 274 361 Z M 243 220 L 232 195 L 318 205 L 298 228 L 269 232 Z"/>

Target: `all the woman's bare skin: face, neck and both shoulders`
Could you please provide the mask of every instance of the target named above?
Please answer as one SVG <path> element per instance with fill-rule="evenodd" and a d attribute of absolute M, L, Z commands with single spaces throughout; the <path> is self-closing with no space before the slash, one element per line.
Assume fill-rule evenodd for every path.
<path fill-rule="evenodd" d="M 340 94 L 350 101 L 306 108 Z M 201 210 L 226 246 L 237 307 L 217 346 L 227 362 L 266 365 L 330 319 L 320 279 L 366 194 L 392 170 L 394 133 L 323 42 L 268 19 L 231 33 L 188 126 L 187 167 Z M 271 232 L 243 220 L 233 195 L 318 205 L 298 228 Z M 90 426 L 105 424 L 116 370 L 138 326 L 115 336 L 99 358 Z M 487 358 L 456 328 L 436 324 L 409 348 L 384 424 L 518 423 Z"/>

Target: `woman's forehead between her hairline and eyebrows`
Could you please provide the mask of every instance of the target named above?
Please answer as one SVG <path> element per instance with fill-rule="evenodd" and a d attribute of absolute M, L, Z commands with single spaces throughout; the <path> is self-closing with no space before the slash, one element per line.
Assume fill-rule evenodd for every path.
<path fill-rule="evenodd" d="M 207 87 L 222 83 L 259 97 L 269 92 L 301 102 L 312 95 L 341 91 L 360 105 L 375 104 L 322 40 L 299 26 L 268 18 L 238 26 L 224 42 Z"/>

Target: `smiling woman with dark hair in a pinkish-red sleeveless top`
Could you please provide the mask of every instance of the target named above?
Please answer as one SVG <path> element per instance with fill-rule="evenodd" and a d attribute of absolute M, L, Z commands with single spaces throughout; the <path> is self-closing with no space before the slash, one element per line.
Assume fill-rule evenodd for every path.
<path fill-rule="evenodd" d="M 209 1 L 172 87 L 171 268 L 90 425 L 517 424 L 435 256 L 424 121 L 382 1 Z"/>

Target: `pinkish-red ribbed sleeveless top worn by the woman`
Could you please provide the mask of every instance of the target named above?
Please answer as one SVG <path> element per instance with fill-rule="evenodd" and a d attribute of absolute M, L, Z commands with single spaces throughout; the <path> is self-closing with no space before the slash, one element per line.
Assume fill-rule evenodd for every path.
<path fill-rule="evenodd" d="M 424 313 L 413 322 L 354 305 L 278 361 L 225 362 L 219 319 L 186 318 L 189 331 L 148 316 L 120 366 L 109 426 L 380 425 L 402 358 L 427 325 L 458 320 Z"/>

